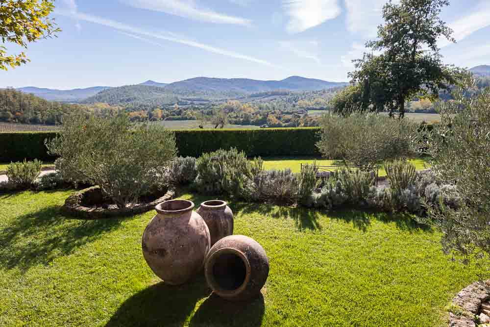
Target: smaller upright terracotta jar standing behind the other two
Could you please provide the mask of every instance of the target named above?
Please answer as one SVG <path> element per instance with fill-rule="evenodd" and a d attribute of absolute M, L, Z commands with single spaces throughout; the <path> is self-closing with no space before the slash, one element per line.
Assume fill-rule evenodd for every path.
<path fill-rule="evenodd" d="M 206 222 L 211 234 L 211 246 L 225 236 L 233 235 L 233 212 L 225 201 L 202 202 L 196 211 Z"/>

